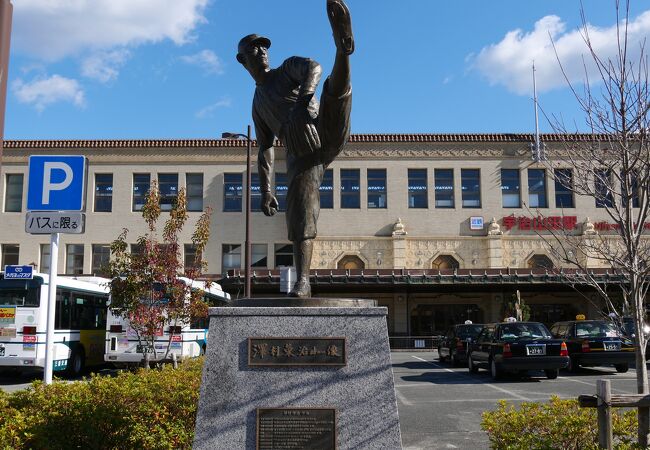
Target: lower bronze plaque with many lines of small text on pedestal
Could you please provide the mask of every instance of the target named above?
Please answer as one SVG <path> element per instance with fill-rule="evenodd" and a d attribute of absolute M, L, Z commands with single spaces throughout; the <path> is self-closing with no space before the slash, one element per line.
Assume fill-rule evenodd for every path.
<path fill-rule="evenodd" d="M 257 450 L 336 450 L 336 409 L 257 408 Z"/>

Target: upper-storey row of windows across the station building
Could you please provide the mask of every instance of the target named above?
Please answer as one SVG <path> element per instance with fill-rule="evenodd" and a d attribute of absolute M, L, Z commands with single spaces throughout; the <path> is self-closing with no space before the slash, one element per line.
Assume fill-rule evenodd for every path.
<path fill-rule="evenodd" d="M 367 169 L 367 207 L 385 209 L 387 204 L 386 169 Z M 260 180 L 257 173 L 251 174 L 251 210 L 259 211 L 262 201 Z M 20 212 L 23 201 L 23 175 L 7 174 L 5 184 L 5 212 Z M 596 207 L 612 206 L 613 193 L 608 190 L 611 173 L 603 170 L 596 173 L 595 198 Z M 340 169 L 341 208 L 356 209 L 361 207 L 361 170 Z M 555 169 L 553 173 L 555 188 L 555 207 L 574 208 L 573 172 L 571 169 Z M 152 177 L 149 173 L 133 174 L 132 210 L 140 211 L 145 197 L 151 187 Z M 157 175 L 160 188 L 160 207 L 163 211 L 171 210 L 178 195 L 178 173 L 160 173 Z M 481 207 L 481 171 L 480 169 L 460 169 L 461 207 Z M 203 174 L 185 175 L 188 211 L 203 210 Z M 454 169 L 433 170 L 434 201 L 436 208 L 456 208 L 454 187 Z M 429 207 L 429 179 L 427 169 L 408 169 L 408 206 L 409 208 Z M 545 169 L 528 169 L 528 207 L 548 208 L 548 189 Z M 638 207 L 638 187 L 633 189 L 633 206 Z M 223 211 L 241 212 L 243 199 L 243 174 L 224 174 Z M 275 196 L 279 211 L 286 210 L 287 174 L 275 174 Z M 501 197 L 504 208 L 521 208 L 521 171 L 519 169 L 501 169 Z M 324 173 L 320 187 L 321 208 L 334 208 L 333 169 Z M 94 190 L 94 211 L 111 212 L 113 209 L 113 174 L 96 173 Z"/>

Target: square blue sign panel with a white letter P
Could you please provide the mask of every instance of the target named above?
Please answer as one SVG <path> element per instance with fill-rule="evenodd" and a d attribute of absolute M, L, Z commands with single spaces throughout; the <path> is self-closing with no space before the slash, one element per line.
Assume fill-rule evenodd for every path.
<path fill-rule="evenodd" d="M 82 211 L 86 157 L 30 156 L 28 211 Z"/>

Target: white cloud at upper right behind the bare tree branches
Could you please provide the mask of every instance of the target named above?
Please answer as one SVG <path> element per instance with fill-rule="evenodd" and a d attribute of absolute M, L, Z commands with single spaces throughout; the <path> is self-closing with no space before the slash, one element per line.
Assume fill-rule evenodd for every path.
<path fill-rule="evenodd" d="M 598 28 L 589 25 L 589 37 L 596 53 L 602 58 L 614 58 L 617 52 L 616 25 Z M 631 19 L 628 27 L 629 57 L 638 57 L 640 42 L 650 35 L 650 11 Z M 552 41 L 551 41 L 552 39 Z M 590 60 L 580 31 L 566 31 L 566 25 L 557 16 L 546 16 L 535 23 L 530 32 L 516 29 L 508 32 L 501 42 L 484 47 L 470 57 L 473 68 L 479 70 L 493 85 L 503 85 L 517 94 L 531 94 L 533 90 L 532 63 L 535 61 L 538 91 L 565 87 L 566 81 L 557 57 L 572 83 L 585 79 L 585 64 L 591 80 L 598 74 Z"/>

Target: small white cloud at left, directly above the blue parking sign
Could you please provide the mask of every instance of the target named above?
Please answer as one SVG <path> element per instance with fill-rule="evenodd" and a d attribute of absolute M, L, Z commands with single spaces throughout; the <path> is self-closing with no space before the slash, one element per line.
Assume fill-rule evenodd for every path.
<path fill-rule="evenodd" d="M 56 102 L 70 102 L 78 107 L 85 105 L 84 91 L 77 80 L 60 75 L 31 82 L 17 79 L 12 83 L 12 91 L 19 102 L 34 105 L 38 112 Z"/>

